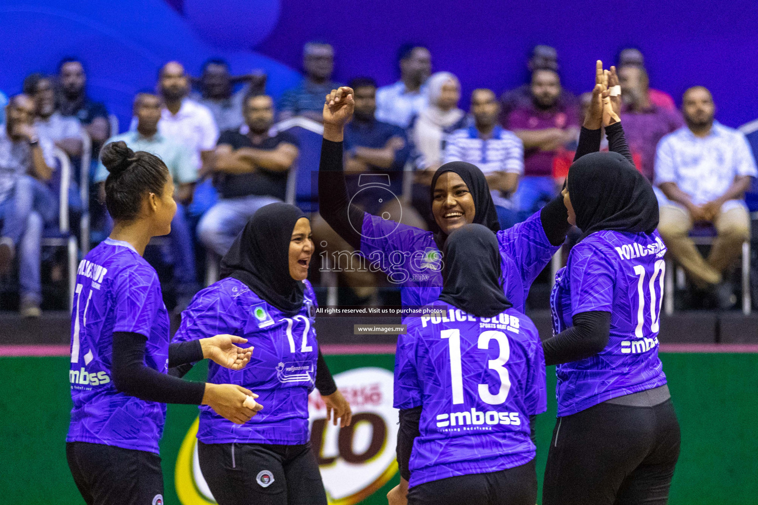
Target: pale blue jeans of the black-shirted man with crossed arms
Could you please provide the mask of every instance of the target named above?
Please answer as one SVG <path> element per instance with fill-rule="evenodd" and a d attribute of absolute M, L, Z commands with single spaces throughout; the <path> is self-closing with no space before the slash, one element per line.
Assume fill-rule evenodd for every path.
<path fill-rule="evenodd" d="M 259 208 L 277 201 L 281 200 L 268 195 L 221 198 L 200 219 L 197 235 L 206 248 L 224 256 L 252 214 Z"/>

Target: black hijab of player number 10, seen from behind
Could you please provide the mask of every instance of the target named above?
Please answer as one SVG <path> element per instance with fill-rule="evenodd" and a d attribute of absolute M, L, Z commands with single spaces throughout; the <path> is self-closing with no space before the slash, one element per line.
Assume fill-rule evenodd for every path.
<path fill-rule="evenodd" d="M 582 238 L 603 229 L 652 233 L 658 226 L 653 186 L 622 154 L 584 154 L 568 170 L 567 184 Z"/>

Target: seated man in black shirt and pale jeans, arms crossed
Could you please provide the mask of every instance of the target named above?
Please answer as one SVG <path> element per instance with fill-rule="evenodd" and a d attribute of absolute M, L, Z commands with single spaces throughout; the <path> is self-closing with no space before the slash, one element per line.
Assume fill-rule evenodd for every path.
<path fill-rule="evenodd" d="M 256 210 L 283 201 L 287 173 L 298 154 L 295 137 L 269 133 L 274 124 L 270 96 L 245 98 L 243 114 L 246 124 L 239 130 L 227 129 L 218 139 L 213 179 L 221 198 L 197 226 L 202 243 L 219 256 L 229 251 Z"/>

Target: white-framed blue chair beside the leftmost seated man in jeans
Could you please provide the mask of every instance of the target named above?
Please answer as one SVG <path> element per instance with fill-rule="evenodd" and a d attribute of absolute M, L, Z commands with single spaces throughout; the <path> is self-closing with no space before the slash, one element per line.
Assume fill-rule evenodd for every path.
<path fill-rule="evenodd" d="M 56 167 L 53 171 L 50 187 L 58 193 L 58 223 L 57 226 L 49 226 L 42 232 L 42 247 L 65 248 L 68 265 L 68 301 L 69 310 L 73 308 L 74 288 L 77 282 L 77 262 L 79 260 L 79 248 L 77 237 L 70 230 L 70 181 L 71 164 L 68 156 L 60 149 L 55 149 Z"/>

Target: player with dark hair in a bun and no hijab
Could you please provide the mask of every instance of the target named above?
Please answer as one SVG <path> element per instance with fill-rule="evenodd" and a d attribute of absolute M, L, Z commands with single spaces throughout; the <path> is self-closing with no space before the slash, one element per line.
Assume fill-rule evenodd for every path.
<path fill-rule="evenodd" d="M 245 339 L 231 335 L 169 344 L 158 275 L 142 255 L 151 237 L 171 230 L 177 208 L 171 174 L 158 157 L 124 142 L 106 145 L 102 162 L 110 172 L 105 204 L 114 229 L 77 272 L 66 456 L 88 505 L 162 503 L 164 404 L 205 404 L 237 423 L 255 415 L 243 406 L 255 397 L 249 390 L 186 382 L 168 368 L 210 357 L 241 369 L 250 354 L 234 344 Z"/>

